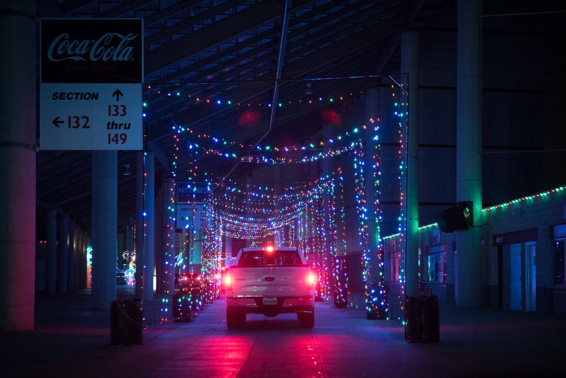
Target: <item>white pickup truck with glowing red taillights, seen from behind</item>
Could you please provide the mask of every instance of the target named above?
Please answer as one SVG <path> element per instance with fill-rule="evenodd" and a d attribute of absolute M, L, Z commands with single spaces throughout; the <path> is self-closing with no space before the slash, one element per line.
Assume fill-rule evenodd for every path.
<path fill-rule="evenodd" d="M 315 274 L 297 248 L 243 248 L 224 284 L 228 328 L 238 328 L 247 313 L 297 313 L 303 327 L 315 324 Z"/>

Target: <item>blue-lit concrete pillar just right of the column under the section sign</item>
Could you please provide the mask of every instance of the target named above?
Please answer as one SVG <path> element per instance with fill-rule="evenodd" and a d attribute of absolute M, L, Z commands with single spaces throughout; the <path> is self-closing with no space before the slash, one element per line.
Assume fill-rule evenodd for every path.
<path fill-rule="evenodd" d="M 155 171 L 153 152 L 139 152 L 136 169 L 136 297 L 153 300 Z"/>

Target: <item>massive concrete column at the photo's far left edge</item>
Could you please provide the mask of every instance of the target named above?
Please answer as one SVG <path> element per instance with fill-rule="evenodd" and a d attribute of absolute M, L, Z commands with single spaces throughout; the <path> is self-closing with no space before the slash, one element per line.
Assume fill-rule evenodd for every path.
<path fill-rule="evenodd" d="M 0 330 L 24 330 L 35 298 L 35 1 L 0 8 Z"/>

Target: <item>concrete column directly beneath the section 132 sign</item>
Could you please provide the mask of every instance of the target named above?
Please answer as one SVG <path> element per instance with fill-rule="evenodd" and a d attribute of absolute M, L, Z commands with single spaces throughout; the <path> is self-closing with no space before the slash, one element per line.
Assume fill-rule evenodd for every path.
<path fill-rule="evenodd" d="M 110 310 L 116 298 L 117 151 L 92 152 L 92 306 Z"/>

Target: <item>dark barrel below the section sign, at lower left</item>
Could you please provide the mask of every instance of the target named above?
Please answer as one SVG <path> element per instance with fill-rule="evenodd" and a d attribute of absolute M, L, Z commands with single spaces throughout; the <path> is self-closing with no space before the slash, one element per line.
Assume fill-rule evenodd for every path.
<path fill-rule="evenodd" d="M 113 300 L 110 304 L 110 344 L 140 345 L 142 342 L 141 299 Z"/>

